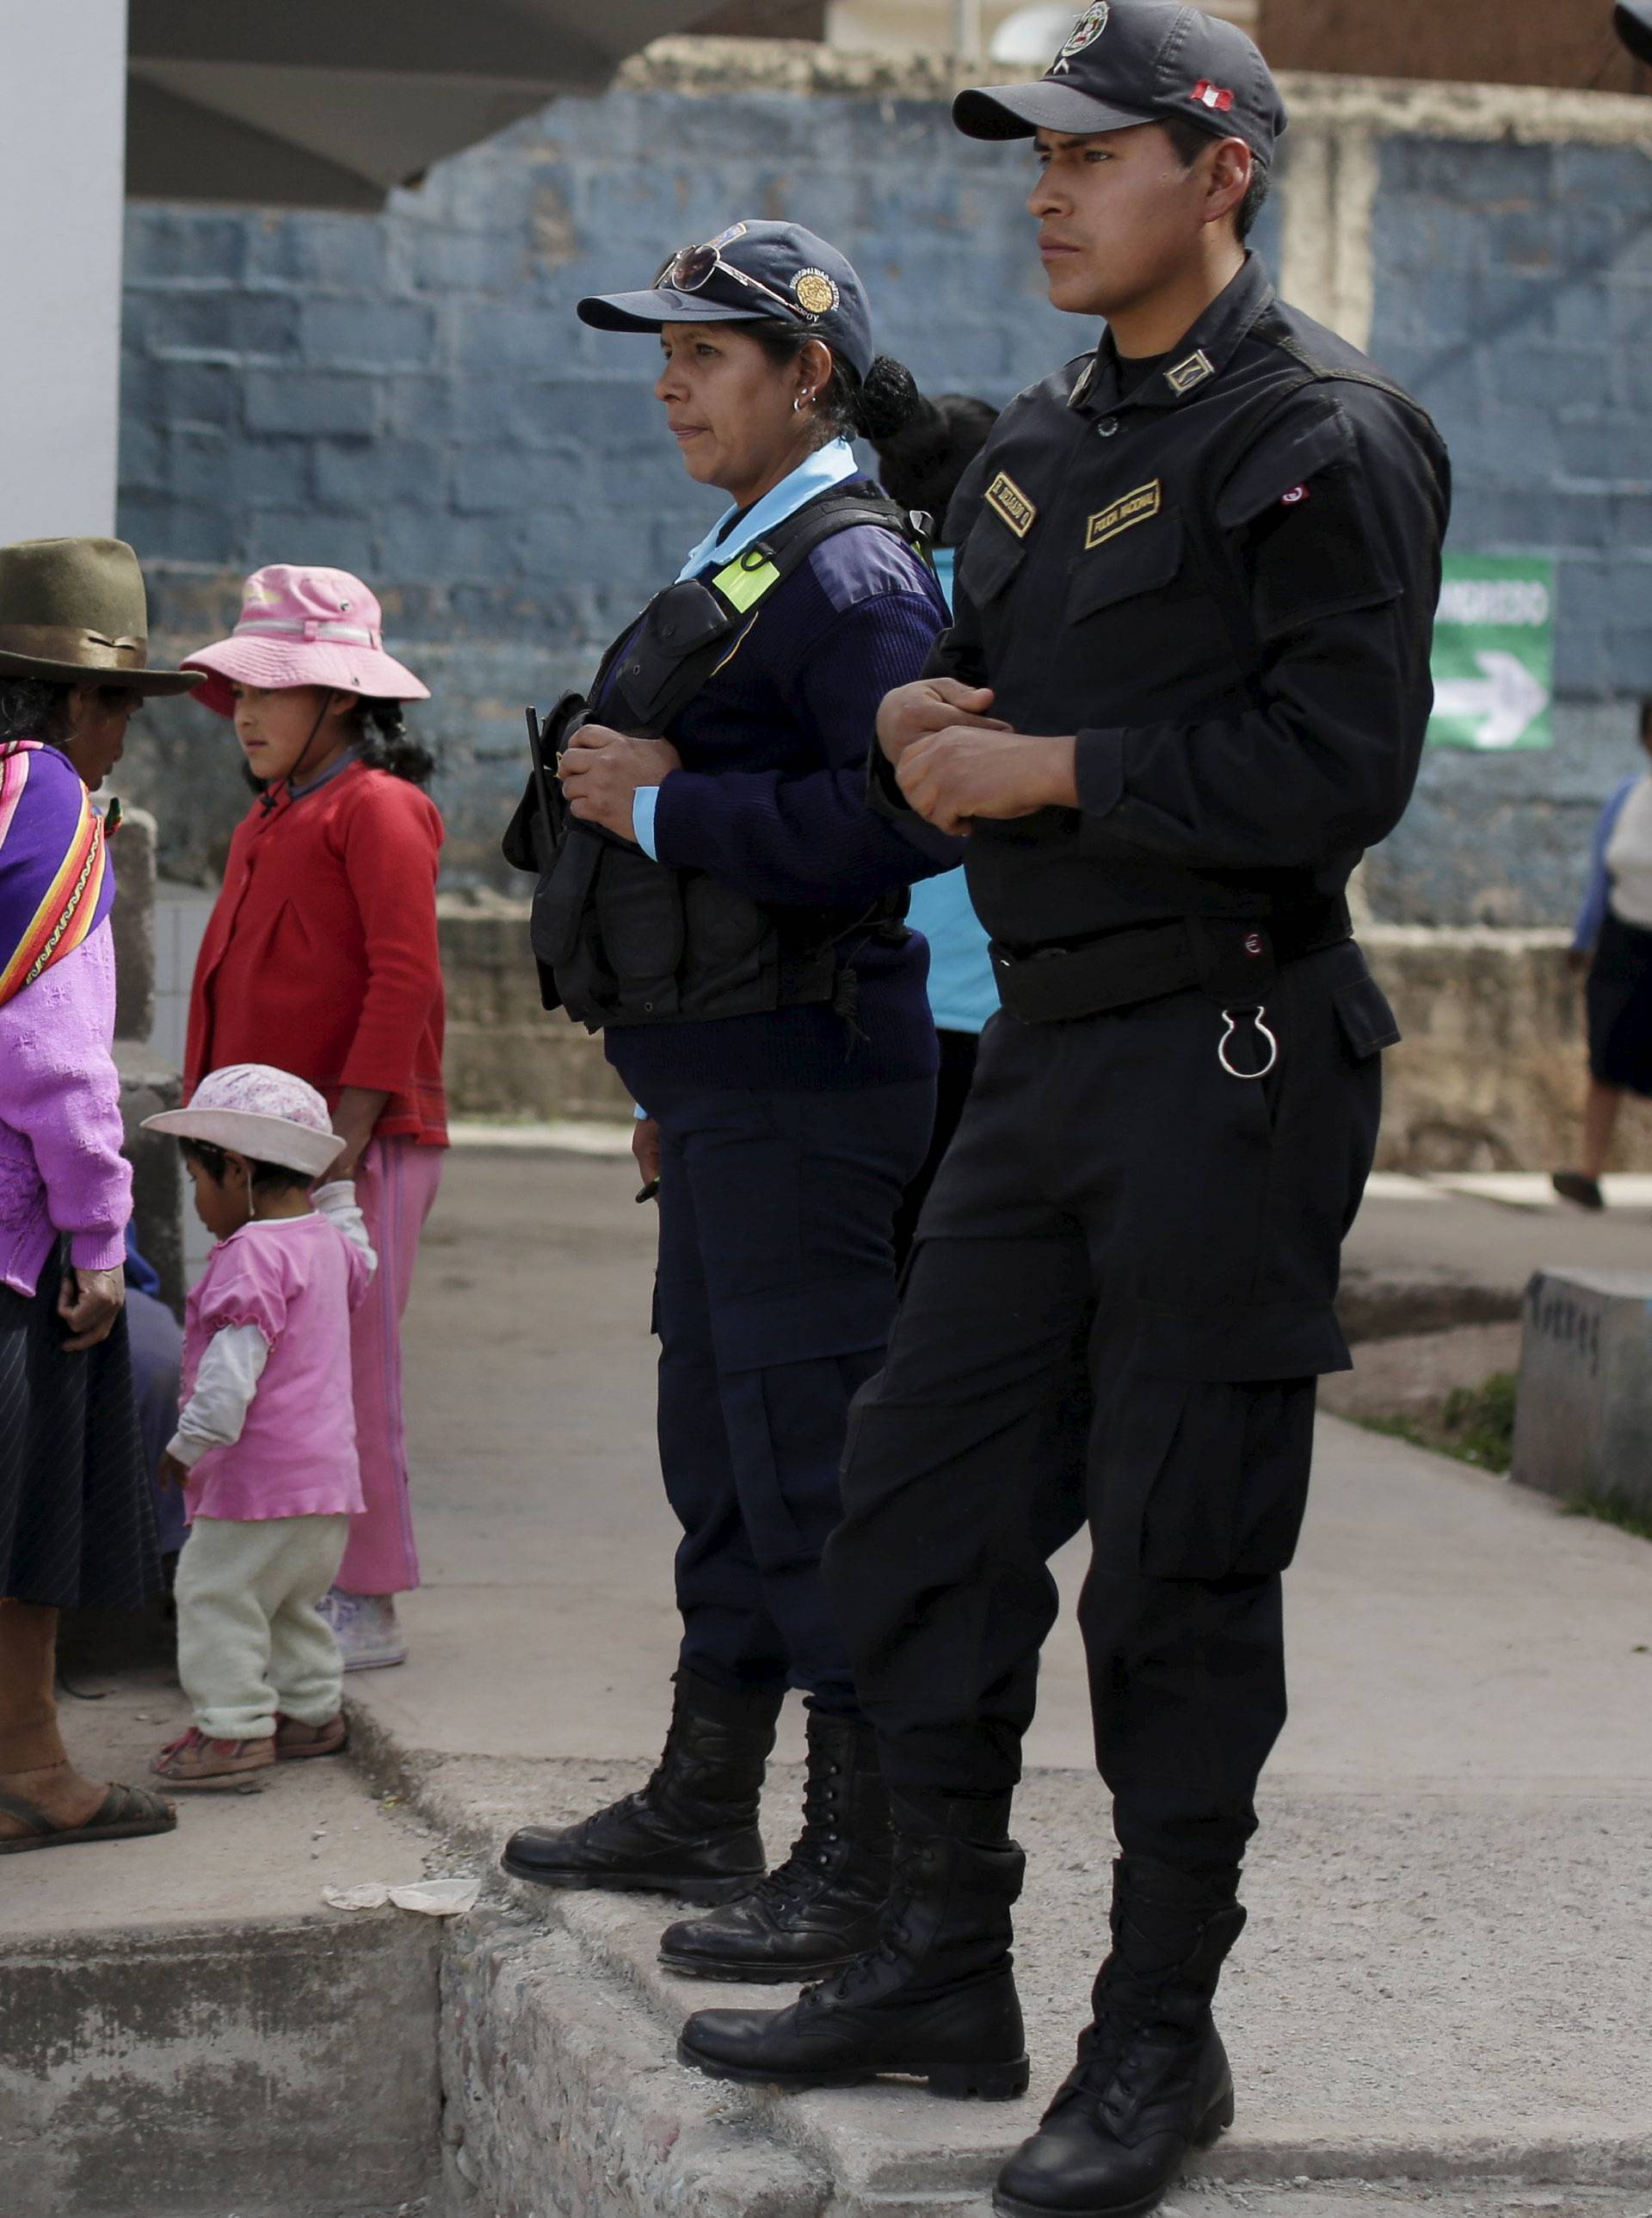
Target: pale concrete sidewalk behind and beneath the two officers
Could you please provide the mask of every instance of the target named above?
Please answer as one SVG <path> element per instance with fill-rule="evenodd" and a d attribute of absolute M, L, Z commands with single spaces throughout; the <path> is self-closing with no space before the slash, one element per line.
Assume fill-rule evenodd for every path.
<path fill-rule="evenodd" d="M 477 1852 L 636 1783 L 665 1728 L 674 1524 L 652 1442 L 654 1224 L 632 1191 L 625 1162 L 457 1153 L 408 1317 L 428 1584 L 406 1604 L 412 1661 L 353 1695 L 377 1761 Z M 1486 1204 L 1417 1215 L 1459 1207 Z M 1075 1553 L 1060 1575 L 1071 1597 Z M 1240 2120 L 1204 2191 L 1501 2178 L 1566 2189 L 1550 2209 L 1652 2207 L 1652 1548 L 1328 1422 L 1291 1624 L 1295 1715 L 1224 1983 Z M 789 1717 L 781 1757 L 798 1752 Z M 663 1905 L 508 1890 L 472 1970 L 539 2012 L 537 2032 L 519 2027 L 508 2067 L 461 2054 L 475 2100 L 455 2103 L 499 2209 L 517 2207 L 499 2189 L 517 2160 L 503 2140 L 532 2140 L 534 2116 L 541 2140 L 577 2136 L 590 2120 L 570 2123 L 570 2105 L 601 2109 L 619 2083 L 641 2089 L 643 2169 L 636 2149 L 676 2120 L 670 2207 L 789 2214 L 827 2194 L 834 2218 L 985 2209 L 1000 2154 L 1067 2067 L 1102 1947 L 1111 1834 L 1071 1617 L 1029 1766 L 1024 2105 L 714 2089 L 670 2063 L 672 2032 L 727 1990 L 659 1972 Z M 794 1808 L 796 1777 L 778 1770 L 776 1845 Z M 534 1950 L 561 1978 L 537 1983 Z M 599 2021 L 614 2027 L 608 2065 Z M 543 2072 L 523 2076 L 528 2054 Z M 610 2127 L 592 2163 L 616 2160 L 625 2127 Z M 703 2191 L 683 2169 L 696 2131 L 714 2151 Z M 730 2200 L 730 2134 L 741 2165 L 769 2151 L 763 2194 Z M 654 2207 L 634 2180 L 625 2194 L 614 2209 Z M 1452 2209 L 1492 2207 L 1483 2189 L 1455 2194 Z"/>

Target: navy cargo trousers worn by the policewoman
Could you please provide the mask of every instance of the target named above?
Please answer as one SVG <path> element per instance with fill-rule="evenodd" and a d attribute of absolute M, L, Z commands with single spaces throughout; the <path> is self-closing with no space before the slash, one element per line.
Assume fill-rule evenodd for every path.
<path fill-rule="evenodd" d="M 650 1085 L 661 1129 L 659 1453 L 683 1526 L 683 1664 L 856 1715 L 820 1584 L 849 1404 L 896 1300 L 894 1218 L 934 1080 L 820 1093 Z"/>

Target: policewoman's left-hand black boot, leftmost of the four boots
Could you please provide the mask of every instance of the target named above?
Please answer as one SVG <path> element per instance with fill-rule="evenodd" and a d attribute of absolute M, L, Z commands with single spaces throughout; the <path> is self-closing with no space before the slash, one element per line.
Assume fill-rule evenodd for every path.
<path fill-rule="evenodd" d="M 732 1692 L 676 1675 L 672 1730 L 636 1794 L 579 1825 L 523 1825 L 506 1841 L 512 1879 L 727 1903 L 763 1876 L 756 1805 L 781 1717 L 778 1692 Z"/>

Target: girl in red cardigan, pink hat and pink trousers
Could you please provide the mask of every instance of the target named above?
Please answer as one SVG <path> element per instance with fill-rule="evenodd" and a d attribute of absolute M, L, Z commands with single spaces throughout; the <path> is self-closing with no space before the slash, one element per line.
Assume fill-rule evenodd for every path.
<path fill-rule="evenodd" d="M 419 1584 L 401 1422 L 401 1313 L 448 1144 L 432 761 L 401 728 L 428 688 L 384 652 L 346 570 L 273 563 L 231 639 L 184 663 L 235 719 L 259 798 L 235 832 L 188 1009 L 184 1098 L 228 1062 L 308 1078 L 341 1133 L 379 1275 L 353 1320 L 364 1508 L 328 1615 L 346 1670 L 399 1664 Z"/>

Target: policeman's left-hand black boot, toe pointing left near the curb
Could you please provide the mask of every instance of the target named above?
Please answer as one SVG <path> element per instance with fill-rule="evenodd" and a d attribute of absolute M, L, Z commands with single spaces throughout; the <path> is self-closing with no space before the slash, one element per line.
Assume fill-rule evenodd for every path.
<path fill-rule="evenodd" d="M 1009 1907 L 1027 1859 L 1009 1797 L 891 1797 L 883 1939 L 789 2010 L 701 2010 L 679 2061 L 767 2087 L 858 2087 L 880 2072 L 931 2094 L 1027 2092 Z"/>

